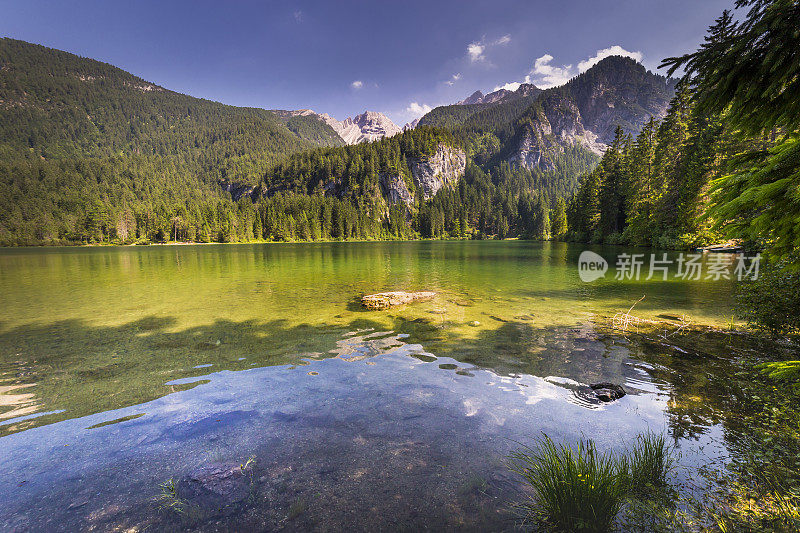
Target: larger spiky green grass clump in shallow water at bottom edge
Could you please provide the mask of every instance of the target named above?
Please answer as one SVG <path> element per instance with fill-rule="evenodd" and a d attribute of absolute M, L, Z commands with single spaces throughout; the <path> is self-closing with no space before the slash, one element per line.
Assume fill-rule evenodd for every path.
<path fill-rule="evenodd" d="M 544 435 L 535 448 L 512 453 L 509 466 L 533 490 L 520 504 L 525 514 L 560 531 L 607 531 L 628 488 L 624 465 L 591 440 L 573 448 Z"/>

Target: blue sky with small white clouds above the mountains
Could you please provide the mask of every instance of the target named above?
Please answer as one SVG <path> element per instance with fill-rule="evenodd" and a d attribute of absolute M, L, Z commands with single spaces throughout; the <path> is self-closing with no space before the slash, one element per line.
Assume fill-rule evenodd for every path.
<path fill-rule="evenodd" d="M 237 106 L 367 109 L 402 126 L 475 90 L 564 83 L 606 55 L 655 71 L 733 0 L 0 0 L 0 35 Z"/>

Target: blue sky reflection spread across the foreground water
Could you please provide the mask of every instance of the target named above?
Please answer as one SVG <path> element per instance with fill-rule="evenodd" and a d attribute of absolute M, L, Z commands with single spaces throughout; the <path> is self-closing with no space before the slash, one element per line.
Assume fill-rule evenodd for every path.
<path fill-rule="evenodd" d="M 473 471 L 491 477 L 496 474 L 487 470 L 502 470 L 502 457 L 517 443 L 542 432 L 557 441 L 586 437 L 602 449 L 622 449 L 643 431 L 666 429 L 667 385 L 649 378 L 648 365 L 619 353 L 618 372 L 629 394 L 596 404 L 581 396 L 585 384 L 575 379 L 499 375 L 434 358 L 419 344 L 405 344 L 405 337 L 353 332 L 326 355 L 334 358 L 310 354 L 298 366 L 178 379 L 167 385 L 183 390 L 151 402 L 3 437 L 0 527 L 108 527 L 123 521 L 117 517 L 135 522 L 137 513 L 151 512 L 158 483 L 214 457 L 286 454 L 291 461 L 293 454 L 303 457 L 313 446 L 330 445 L 339 453 L 301 459 L 296 475 L 317 461 L 323 470 L 345 475 L 356 454 L 375 454 L 358 470 L 369 475 L 370 465 L 380 469 L 385 457 L 378 445 L 358 443 L 408 442 L 416 450 L 403 453 L 417 454 L 420 465 L 434 457 L 446 463 L 445 477 Z M 722 457 L 721 439 L 712 427 L 697 441 L 680 442 L 681 464 L 701 466 Z M 687 472 L 679 469 L 677 476 L 687 481 Z M 335 493 L 341 479 L 317 480 L 314 490 Z M 409 497 L 427 498 L 425 484 L 432 479 L 417 479 L 419 490 Z M 368 484 L 353 498 L 362 507 L 389 505 Z"/>

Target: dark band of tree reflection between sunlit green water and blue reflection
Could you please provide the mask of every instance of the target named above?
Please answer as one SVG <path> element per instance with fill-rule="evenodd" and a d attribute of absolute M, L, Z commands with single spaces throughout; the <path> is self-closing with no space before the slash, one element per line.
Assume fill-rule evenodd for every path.
<path fill-rule="evenodd" d="M 120 326 L 66 320 L 13 328 L 0 334 L 3 353 L 11 354 L 0 362 L 0 386 L 6 388 L 0 417 L 10 419 L 20 407 L 27 408 L 25 414 L 64 412 L 0 426 L 0 432 L 144 403 L 186 388 L 165 385 L 176 379 L 252 366 L 302 364 L 308 358 L 363 359 L 406 344 L 419 344 L 434 356 L 504 376 L 621 383 L 631 375 L 625 364 L 627 347 L 591 326 L 547 328 L 525 321 L 499 322 L 497 328 L 484 326 L 476 337 L 467 338 L 438 317 L 384 318 L 389 328 L 387 322 L 368 319 L 317 326 L 290 326 L 283 320 L 217 320 L 176 330 L 176 319 L 155 316 Z M 26 393 L 24 406 L 13 401 L 19 390 Z"/>

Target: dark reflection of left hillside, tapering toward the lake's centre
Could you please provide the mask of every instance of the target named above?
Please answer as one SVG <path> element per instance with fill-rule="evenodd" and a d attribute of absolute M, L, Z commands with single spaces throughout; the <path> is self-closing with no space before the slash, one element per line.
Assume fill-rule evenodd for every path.
<path fill-rule="evenodd" d="M 27 385 L 24 390 L 33 395 L 27 401 L 38 411 L 65 412 L 0 426 L 0 434 L 144 403 L 177 390 L 165 383 L 179 378 L 298 363 L 305 354 L 327 352 L 345 331 L 290 327 L 281 320 L 217 320 L 179 331 L 172 330 L 175 324 L 170 317 L 147 317 L 121 326 L 67 320 L 3 332 L 0 386 Z M 0 417 L 10 411 L 0 403 Z"/>

